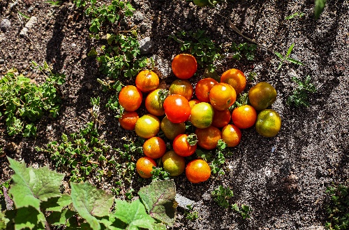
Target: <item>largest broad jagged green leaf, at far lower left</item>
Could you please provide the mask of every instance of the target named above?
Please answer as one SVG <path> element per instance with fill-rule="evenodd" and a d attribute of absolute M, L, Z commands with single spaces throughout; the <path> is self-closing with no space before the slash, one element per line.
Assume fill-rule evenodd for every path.
<path fill-rule="evenodd" d="M 51 171 L 47 166 L 37 169 L 27 168 L 24 161 L 15 161 L 9 157 L 8 161 L 10 168 L 15 171 L 9 193 L 13 196 L 16 208 L 33 206 L 40 211 L 40 201 L 61 196 L 59 186 L 64 174 Z"/>

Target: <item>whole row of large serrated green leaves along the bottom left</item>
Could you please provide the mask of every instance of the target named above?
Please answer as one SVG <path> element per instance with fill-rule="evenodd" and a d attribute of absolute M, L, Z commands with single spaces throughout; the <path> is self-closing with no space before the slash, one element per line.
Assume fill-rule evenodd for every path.
<path fill-rule="evenodd" d="M 8 190 L 13 201 L 7 202 L 15 207 L 0 210 L 0 229 L 164 230 L 165 224 L 174 224 L 176 192 L 172 180 L 152 182 L 140 189 L 140 199 L 128 202 L 88 182 L 70 182 L 70 194 L 61 194 L 64 174 L 47 166 L 27 168 L 24 161 L 8 161 L 15 174 Z"/>

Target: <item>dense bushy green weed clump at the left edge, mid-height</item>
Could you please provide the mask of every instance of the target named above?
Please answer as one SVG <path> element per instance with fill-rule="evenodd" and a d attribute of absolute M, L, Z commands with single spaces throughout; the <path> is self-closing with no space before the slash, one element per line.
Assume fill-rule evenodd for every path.
<path fill-rule="evenodd" d="M 34 122 L 40 120 L 45 112 L 52 117 L 59 113 L 61 97 L 57 86 L 64 83 L 64 74 L 52 73 L 52 67 L 46 62 L 43 66 L 33 63 L 46 76 L 43 84 L 36 84 L 30 78 L 18 75 L 16 69 L 10 69 L 0 78 L 0 108 L 5 112 L 8 135 L 22 134 L 36 136 Z"/>

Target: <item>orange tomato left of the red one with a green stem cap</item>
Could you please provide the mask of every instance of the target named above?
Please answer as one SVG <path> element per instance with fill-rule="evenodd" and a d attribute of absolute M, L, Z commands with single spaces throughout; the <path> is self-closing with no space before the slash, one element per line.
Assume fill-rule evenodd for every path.
<path fill-rule="evenodd" d="M 158 159 L 163 157 L 166 152 L 166 143 L 158 136 L 149 138 L 143 144 L 144 155 L 150 157 L 151 159 Z"/>

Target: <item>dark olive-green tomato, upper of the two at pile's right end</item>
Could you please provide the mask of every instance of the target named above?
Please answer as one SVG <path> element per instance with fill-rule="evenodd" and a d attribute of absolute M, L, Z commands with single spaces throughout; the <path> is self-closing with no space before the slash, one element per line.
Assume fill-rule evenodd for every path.
<path fill-rule="evenodd" d="M 259 82 L 248 91 L 248 100 L 255 110 L 264 110 L 276 101 L 276 90 L 268 82 Z"/>

